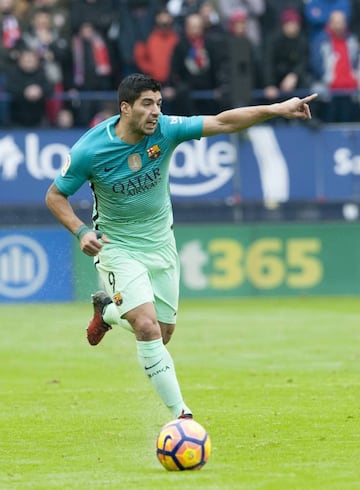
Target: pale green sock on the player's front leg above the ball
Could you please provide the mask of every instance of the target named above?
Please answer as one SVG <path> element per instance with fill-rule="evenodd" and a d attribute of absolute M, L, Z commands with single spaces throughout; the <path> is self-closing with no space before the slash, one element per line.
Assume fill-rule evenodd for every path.
<path fill-rule="evenodd" d="M 174 418 L 184 413 L 191 414 L 181 395 L 171 355 L 162 339 L 136 341 L 138 359 L 162 401 Z"/>

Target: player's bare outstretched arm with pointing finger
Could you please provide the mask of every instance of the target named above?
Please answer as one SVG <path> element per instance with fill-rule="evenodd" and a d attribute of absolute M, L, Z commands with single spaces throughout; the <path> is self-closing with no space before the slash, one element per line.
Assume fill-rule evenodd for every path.
<path fill-rule="evenodd" d="M 239 107 L 220 112 L 216 116 L 206 116 L 202 135 L 236 133 L 273 117 L 311 119 L 309 103 L 316 97 L 317 94 L 309 95 L 303 99 L 292 97 L 275 104 Z"/>

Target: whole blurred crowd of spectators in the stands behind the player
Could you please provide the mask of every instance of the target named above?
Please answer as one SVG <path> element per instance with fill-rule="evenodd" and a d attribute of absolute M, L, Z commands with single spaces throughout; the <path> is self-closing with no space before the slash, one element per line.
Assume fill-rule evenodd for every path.
<path fill-rule="evenodd" d="M 319 93 L 360 121 L 360 0 L 0 0 L 0 126 L 88 127 L 132 72 L 164 112 L 212 114 Z"/>

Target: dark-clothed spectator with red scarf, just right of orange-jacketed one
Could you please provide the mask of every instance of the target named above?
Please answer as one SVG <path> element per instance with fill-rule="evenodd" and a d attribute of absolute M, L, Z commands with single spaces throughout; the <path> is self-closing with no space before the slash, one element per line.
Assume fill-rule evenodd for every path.
<path fill-rule="evenodd" d="M 186 17 L 184 34 L 175 46 L 171 62 L 171 81 L 176 92 L 174 112 L 206 115 L 219 111 L 224 53 L 221 56 L 217 46 L 206 40 L 200 15 Z M 195 90 L 213 94 L 207 99 L 194 99 Z"/>

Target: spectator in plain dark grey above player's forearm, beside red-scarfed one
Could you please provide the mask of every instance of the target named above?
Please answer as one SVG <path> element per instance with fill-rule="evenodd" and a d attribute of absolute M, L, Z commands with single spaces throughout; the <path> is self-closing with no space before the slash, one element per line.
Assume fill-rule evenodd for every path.
<path fill-rule="evenodd" d="M 260 50 L 248 35 L 248 14 L 244 9 L 229 18 L 224 70 L 224 97 L 226 106 L 241 107 L 252 99 L 255 86 L 260 85 Z"/>

